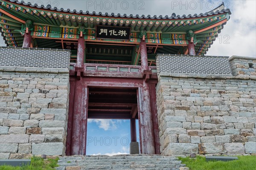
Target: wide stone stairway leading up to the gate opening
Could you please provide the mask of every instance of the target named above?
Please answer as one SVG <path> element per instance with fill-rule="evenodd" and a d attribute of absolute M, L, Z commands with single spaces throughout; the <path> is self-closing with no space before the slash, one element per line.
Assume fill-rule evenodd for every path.
<path fill-rule="evenodd" d="M 56 170 L 186 170 L 186 165 L 174 156 L 143 154 L 64 156 L 58 165 Z"/>

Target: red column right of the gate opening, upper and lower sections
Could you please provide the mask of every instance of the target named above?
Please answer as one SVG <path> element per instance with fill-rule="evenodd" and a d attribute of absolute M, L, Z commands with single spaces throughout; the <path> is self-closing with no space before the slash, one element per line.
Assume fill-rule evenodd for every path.
<path fill-rule="evenodd" d="M 146 43 L 143 39 L 140 42 L 140 57 L 143 71 L 148 71 L 148 55 Z M 143 94 L 141 98 L 142 108 L 140 108 L 140 128 L 142 140 L 142 153 L 155 154 L 154 127 L 152 121 L 151 96 L 149 83 L 143 81 Z"/>

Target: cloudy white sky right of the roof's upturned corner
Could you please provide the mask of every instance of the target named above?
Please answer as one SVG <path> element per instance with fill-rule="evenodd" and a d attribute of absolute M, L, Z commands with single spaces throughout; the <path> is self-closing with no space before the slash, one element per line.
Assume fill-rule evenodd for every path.
<path fill-rule="evenodd" d="M 209 48 L 207 55 L 256 56 L 255 6 L 256 1 L 254 0 L 232 1 L 230 20 L 221 30 L 220 37 L 216 38 Z M 227 40 L 228 38 L 229 40 Z M 225 40 L 228 43 L 225 43 Z"/>

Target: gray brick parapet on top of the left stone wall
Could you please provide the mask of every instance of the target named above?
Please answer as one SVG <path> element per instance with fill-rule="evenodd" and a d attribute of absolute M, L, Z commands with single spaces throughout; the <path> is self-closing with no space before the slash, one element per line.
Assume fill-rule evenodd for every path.
<path fill-rule="evenodd" d="M 69 69 L 70 50 L 0 47 L 0 67 Z"/>

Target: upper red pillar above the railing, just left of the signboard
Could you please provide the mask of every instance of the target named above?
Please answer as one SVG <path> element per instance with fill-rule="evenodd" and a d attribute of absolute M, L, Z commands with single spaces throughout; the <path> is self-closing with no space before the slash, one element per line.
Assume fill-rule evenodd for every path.
<path fill-rule="evenodd" d="M 78 39 L 76 67 L 84 67 L 84 49 L 84 35 L 82 34 Z"/>

